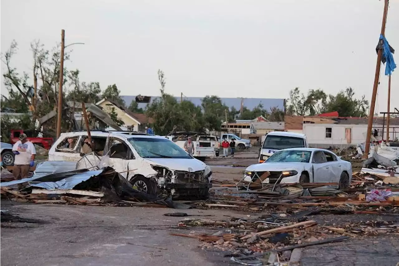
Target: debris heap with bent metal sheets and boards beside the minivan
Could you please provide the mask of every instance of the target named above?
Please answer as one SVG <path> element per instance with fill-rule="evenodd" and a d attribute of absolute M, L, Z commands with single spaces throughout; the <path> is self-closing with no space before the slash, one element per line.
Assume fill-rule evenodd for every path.
<path fill-rule="evenodd" d="M 67 164 L 62 165 L 68 167 Z M 71 162 L 71 166 L 75 167 L 76 163 Z M 38 170 L 40 168 L 39 166 Z M 190 205 L 173 202 L 171 197 L 162 199 L 133 189 L 111 167 L 97 170 L 57 170 L 51 170 L 51 173 L 38 171 L 29 178 L 1 182 L 0 197 L 33 203 L 191 208 Z M 26 188 L 16 189 L 16 185 L 26 184 Z"/>

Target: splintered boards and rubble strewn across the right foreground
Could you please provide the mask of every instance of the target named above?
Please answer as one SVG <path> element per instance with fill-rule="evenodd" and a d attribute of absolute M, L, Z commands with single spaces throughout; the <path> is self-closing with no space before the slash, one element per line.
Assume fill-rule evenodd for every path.
<path fill-rule="evenodd" d="M 257 257 L 265 257 L 264 260 L 269 261 L 271 255 L 272 258 L 279 258 L 280 262 L 284 262 L 290 258 L 291 251 L 295 248 L 342 241 L 349 237 L 399 233 L 399 224 L 395 222 L 365 221 L 344 226 L 319 225 L 315 220 L 308 220 L 308 215 L 312 213 L 307 212 L 305 215 L 302 211 L 291 214 L 280 212 L 257 218 L 248 215 L 249 218 L 217 221 L 186 218 L 178 225 L 190 228 L 192 233 L 172 235 L 197 238 L 202 242 L 203 249 L 228 252 L 225 256 L 243 264 L 255 263 L 253 259 Z M 193 233 L 199 226 L 212 227 L 217 231 L 213 234 Z"/>

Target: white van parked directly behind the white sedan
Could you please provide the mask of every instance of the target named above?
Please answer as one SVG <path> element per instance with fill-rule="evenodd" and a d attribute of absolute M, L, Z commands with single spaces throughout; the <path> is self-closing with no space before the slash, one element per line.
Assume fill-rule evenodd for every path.
<path fill-rule="evenodd" d="M 285 131 L 273 131 L 266 135 L 259 152 L 259 163 L 263 163 L 276 151 L 289 148 L 308 148 L 306 135 Z"/>

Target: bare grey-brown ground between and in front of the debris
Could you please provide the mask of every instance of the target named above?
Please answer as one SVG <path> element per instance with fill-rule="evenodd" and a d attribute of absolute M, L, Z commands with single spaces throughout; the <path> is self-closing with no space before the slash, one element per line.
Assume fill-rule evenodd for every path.
<path fill-rule="evenodd" d="M 217 180 L 241 178 L 245 168 L 257 162 L 257 151 L 234 158 L 206 161 Z M 216 228 L 181 228 L 182 217 L 164 216 L 181 212 L 170 208 L 73 206 L 21 204 L 0 200 L 0 265 L 238 265 L 225 253 L 199 248 L 194 238 L 171 236 L 207 232 Z M 184 210 L 194 218 L 223 220 L 229 216 L 262 214 L 229 210 Z M 8 215 L 4 222 L 2 216 Z M 190 217 L 192 218 L 192 217 Z M 317 215 L 319 224 L 342 224 L 356 220 L 394 221 L 399 215 Z M 349 239 L 346 242 L 304 248 L 302 265 L 396 265 L 397 235 Z"/>

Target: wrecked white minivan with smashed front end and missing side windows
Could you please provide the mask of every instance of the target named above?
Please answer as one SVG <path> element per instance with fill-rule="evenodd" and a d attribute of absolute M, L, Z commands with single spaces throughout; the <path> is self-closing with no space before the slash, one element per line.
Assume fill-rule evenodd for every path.
<path fill-rule="evenodd" d="M 105 163 L 149 194 L 203 199 L 212 187 L 210 167 L 165 137 L 91 131 L 91 140 L 85 131 L 62 133 L 49 150 L 49 161 L 77 161 L 77 169 Z"/>

